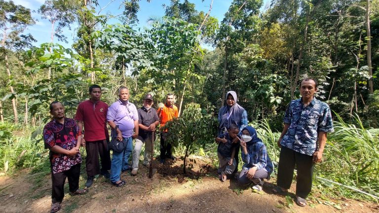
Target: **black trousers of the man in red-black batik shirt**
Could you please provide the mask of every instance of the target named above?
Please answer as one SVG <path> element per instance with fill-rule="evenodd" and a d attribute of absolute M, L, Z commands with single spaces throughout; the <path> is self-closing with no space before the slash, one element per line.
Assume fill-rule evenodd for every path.
<path fill-rule="evenodd" d="M 65 197 L 65 181 L 69 179 L 70 192 L 75 192 L 79 188 L 80 164 L 72 166 L 69 170 L 53 174 L 51 171 L 51 201 L 52 203 L 62 203 Z"/>

